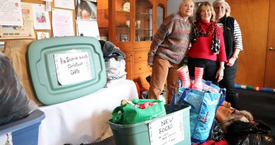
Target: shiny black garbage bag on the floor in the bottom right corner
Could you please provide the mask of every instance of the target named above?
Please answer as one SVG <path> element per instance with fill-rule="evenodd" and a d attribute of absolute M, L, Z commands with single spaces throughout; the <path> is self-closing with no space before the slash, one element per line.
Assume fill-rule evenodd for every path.
<path fill-rule="evenodd" d="M 236 121 L 228 127 L 226 141 L 229 145 L 267 145 L 274 142 L 271 129 L 257 121 Z"/>

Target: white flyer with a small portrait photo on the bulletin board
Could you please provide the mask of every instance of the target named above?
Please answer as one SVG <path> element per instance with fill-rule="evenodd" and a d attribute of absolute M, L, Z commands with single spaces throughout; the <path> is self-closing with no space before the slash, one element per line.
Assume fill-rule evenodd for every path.
<path fill-rule="evenodd" d="M 50 30 L 49 12 L 44 4 L 32 4 L 35 30 Z"/>

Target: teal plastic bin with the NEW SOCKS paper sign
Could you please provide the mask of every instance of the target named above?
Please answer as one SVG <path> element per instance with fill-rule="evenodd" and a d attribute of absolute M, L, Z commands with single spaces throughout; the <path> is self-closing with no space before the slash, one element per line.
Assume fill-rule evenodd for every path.
<path fill-rule="evenodd" d="M 165 105 L 166 112 L 169 110 L 169 105 Z M 176 115 L 176 116 L 175 116 Z M 161 125 L 165 124 L 166 121 L 169 122 L 169 120 L 173 119 L 173 117 L 181 116 L 182 117 L 182 124 L 179 124 L 179 126 L 172 127 L 171 124 L 168 124 L 166 127 L 161 128 Z M 153 125 L 154 123 L 160 122 L 159 128 L 157 129 L 157 132 L 154 132 L 152 134 L 152 127 L 156 127 Z M 167 115 L 164 115 L 163 117 L 155 118 L 152 120 L 147 120 L 144 122 L 139 122 L 136 124 L 114 124 L 109 120 L 109 125 L 111 127 L 111 130 L 114 134 L 114 139 L 116 141 L 116 144 L 119 145 L 152 145 L 152 144 L 171 144 L 169 141 L 173 142 L 173 137 L 176 137 L 176 135 L 180 135 L 181 140 L 176 141 L 176 144 L 191 144 L 190 139 L 190 106 L 183 105 L 179 110 L 176 109 L 176 111 L 171 112 Z M 169 134 L 164 133 L 166 129 L 169 129 L 169 126 L 171 128 L 181 128 L 181 133 L 178 134 Z M 149 129 L 149 127 L 151 127 Z M 153 137 L 159 134 L 163 134 L 159 137 Z M 159 139 L 162 139 L 163 141 L 159 141 Z M 170 139 L 169 139 L 170 138 Z M 173 142 L 175 143 L 175 142 Z"/>

